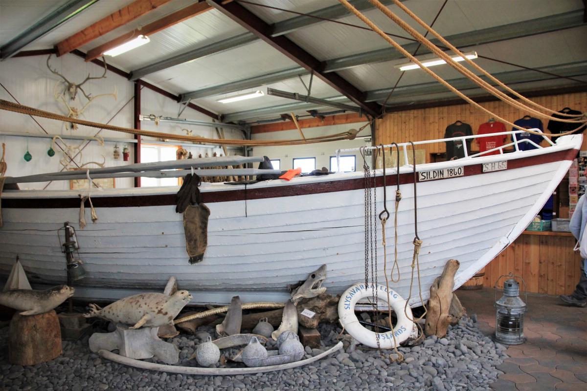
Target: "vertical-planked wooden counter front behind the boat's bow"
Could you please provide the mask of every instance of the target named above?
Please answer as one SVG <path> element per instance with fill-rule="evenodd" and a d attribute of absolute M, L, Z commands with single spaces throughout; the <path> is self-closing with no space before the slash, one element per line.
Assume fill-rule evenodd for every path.
<path fill-rule="evenodd" d="M 570 294 L 581 274 L 581 256 L 573 247 L 570 232 L 524 231 L 485 266 L 483 285 L 493 288 L 502 274 L 511 272 L 524 278 L 528 292 Z M 505 280 L 500 280 L 500 287 Z"/>

